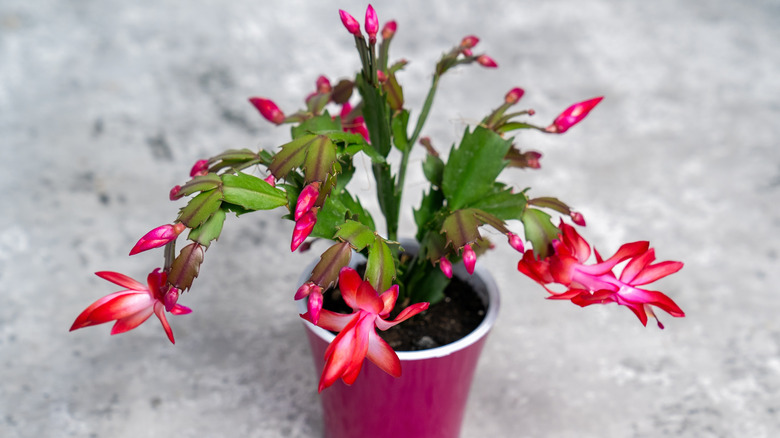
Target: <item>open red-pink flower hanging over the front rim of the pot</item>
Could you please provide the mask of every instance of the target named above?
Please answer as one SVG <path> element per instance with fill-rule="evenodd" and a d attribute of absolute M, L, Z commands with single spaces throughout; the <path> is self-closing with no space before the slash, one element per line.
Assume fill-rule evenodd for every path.
<path fill-rule="evenodd" d="M 347 385 L 354 383 L 366 358 L 391 376 L 399 377 L 401 361 L 387 342 L 379 337 L 376 328 L 387 330 L 427 309 L 428 303 L 412 304 L 394 320 L 388 321 L 386 318 L 398 299 L 398 285 L 377 296 L 371 283 L 361 280 L 354 269 L 345 267 L 339 272 L 339 289 L 354 312 L 346 315 L 323 309 L 320 314 L 317 325 L 339 334 L 325 350 L 325 368 L 319 391 L 339 378 Z M 301 317 L 312 321 L 308 312 Z"/>

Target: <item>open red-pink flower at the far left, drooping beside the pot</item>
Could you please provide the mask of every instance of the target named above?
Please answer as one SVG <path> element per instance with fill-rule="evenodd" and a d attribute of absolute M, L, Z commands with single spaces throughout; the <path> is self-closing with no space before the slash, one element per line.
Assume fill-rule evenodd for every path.
<path fill-rule="evenodd" d="M 111 334 L 115 335 L 138 327 L 154 313 L 162 323 L 168 339 L 176 343 L 165 310 L 174 315 L 185 315 L 192 310 L 176 304 L 178 290 L 168 285 L 165 272 L 160 272 L 159 268 L 152 271 L 146 279 L 147 286 L 118 272 L 103 271 L 95 275 L 127 290 L 114 292 L 92 303 L 76 318 L 70 331 L 116 321 L 111 329 Z"/>

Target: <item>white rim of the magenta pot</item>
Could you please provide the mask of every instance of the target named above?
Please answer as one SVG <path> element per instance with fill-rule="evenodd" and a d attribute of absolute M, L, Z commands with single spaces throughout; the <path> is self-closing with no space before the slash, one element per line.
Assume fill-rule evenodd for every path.
<path fill-rule="evenodd" d="M 358 260 L 355 260 L 356 258 L 358 257 L 352 257 L 352 263 L 350 263 L 350 266 L 360 263 L 361 260 L 359 260 L 359 258 Z M 301 279 L 298 281 L 299 286 L 308 281 L 309 276 L 311 275 L 311 271 L 314 269 L 316 264 L 317 262 L 315 261 L 307 267 L 307 269 L 304 271 L 304 275 L 302 275 Z M 485 304 L 487 306 L 487 310 L 485 312 L 485 318 L 471 333 L 447 345 L 419 351 L 396 351 L 396 354 L 400 360 L 412 361 L 448 356 L 452 353 L 469 347 L 483 337 L 487 336 L 487 334 L 490 332 L 490 329 L 492 329 L 493 325 L 495 325 L 496 319 L 498 318 L 498 308 L 501 300 L 498 294 L 498 286 L 496 285 L 496 282 L 490 272 L 483 268 L 478 262 L 474 269 L 474 274 L 469 275 L 466 272 L 466 268 L 463 266 L 463 263 L 458 263 L 457 265 L 453 266 L 453 275 L 471 285 L 482 297 L 483 302 L 486 301 Z M 298 309 L 301 313 L 305 313 L 307 311 L 306 300 L 298 301 Z M 329 332 L 328 330 L 325 330 L 322 327 L 318 327 L 309 321 L 303 320 L 303 323 L 309 330 L 311 330 L 320 339 L 327 342 L 328 344 L 330 344 L 336 337 L 336 335 Z"/>

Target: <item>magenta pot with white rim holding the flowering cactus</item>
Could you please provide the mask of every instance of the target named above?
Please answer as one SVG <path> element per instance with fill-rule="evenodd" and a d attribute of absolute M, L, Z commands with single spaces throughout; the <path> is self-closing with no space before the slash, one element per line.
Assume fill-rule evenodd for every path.
<path fill-rule="evenodd" d="M 499 295 L 495 281 L 479 265 L 473 276 L 462 265 L 456 266 L 455 275 L 465 279 L 482 296 L 487 304 L 484 321 L 468 336 L 451 344 L 424 351 L 398 352 L 403 370 L 399 378 L 366 361 L 353 385 L 338 380 L 323 390 L 325 438 L 455 438 L 460 435 L 477 360 L 498 315 Z M 308 275 L 301 284 L 306 279 Z M 308 321 L 304 325 L 319 374 L 325 365 L 325 349 L 335 336 Z"/>

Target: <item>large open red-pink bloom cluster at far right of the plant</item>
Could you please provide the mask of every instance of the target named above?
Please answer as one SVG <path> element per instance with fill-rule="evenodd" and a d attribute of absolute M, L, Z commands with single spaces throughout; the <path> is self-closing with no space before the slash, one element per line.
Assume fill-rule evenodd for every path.
<path fill-rule="evenodd" d="M 571 300 L 585 307 L 591 304 L 614 302 L 631 309 L 643 325 L 648 316 L 658 318 L 651 306 L 658 307 L 674 317 L 685 313 L 671 298 L 661 292 L 641 289 L 642 286 L 671 275 L 680 269 L 681 262 L 666 261 L 651 264 L 655 251 L 649 242 L 632 242 L 621 246 L 610 258 L 603 260 L 596 252 L 596 263 L 586 265 L 591 248 L 571 225 L 561 223 L 562 234 L 553 241 L 554 253 L 544 260 L 537 260 L 528 250 L 517 264 L 517 269 L 537 281 L 551 294 L 551 299 Z M 628 261 L 620 276 L 613 269 Z M 549 283 L 558 283 L 568 289 L 554 292 Z M 658 326 L 663 325 L 658 322 Z"/>

